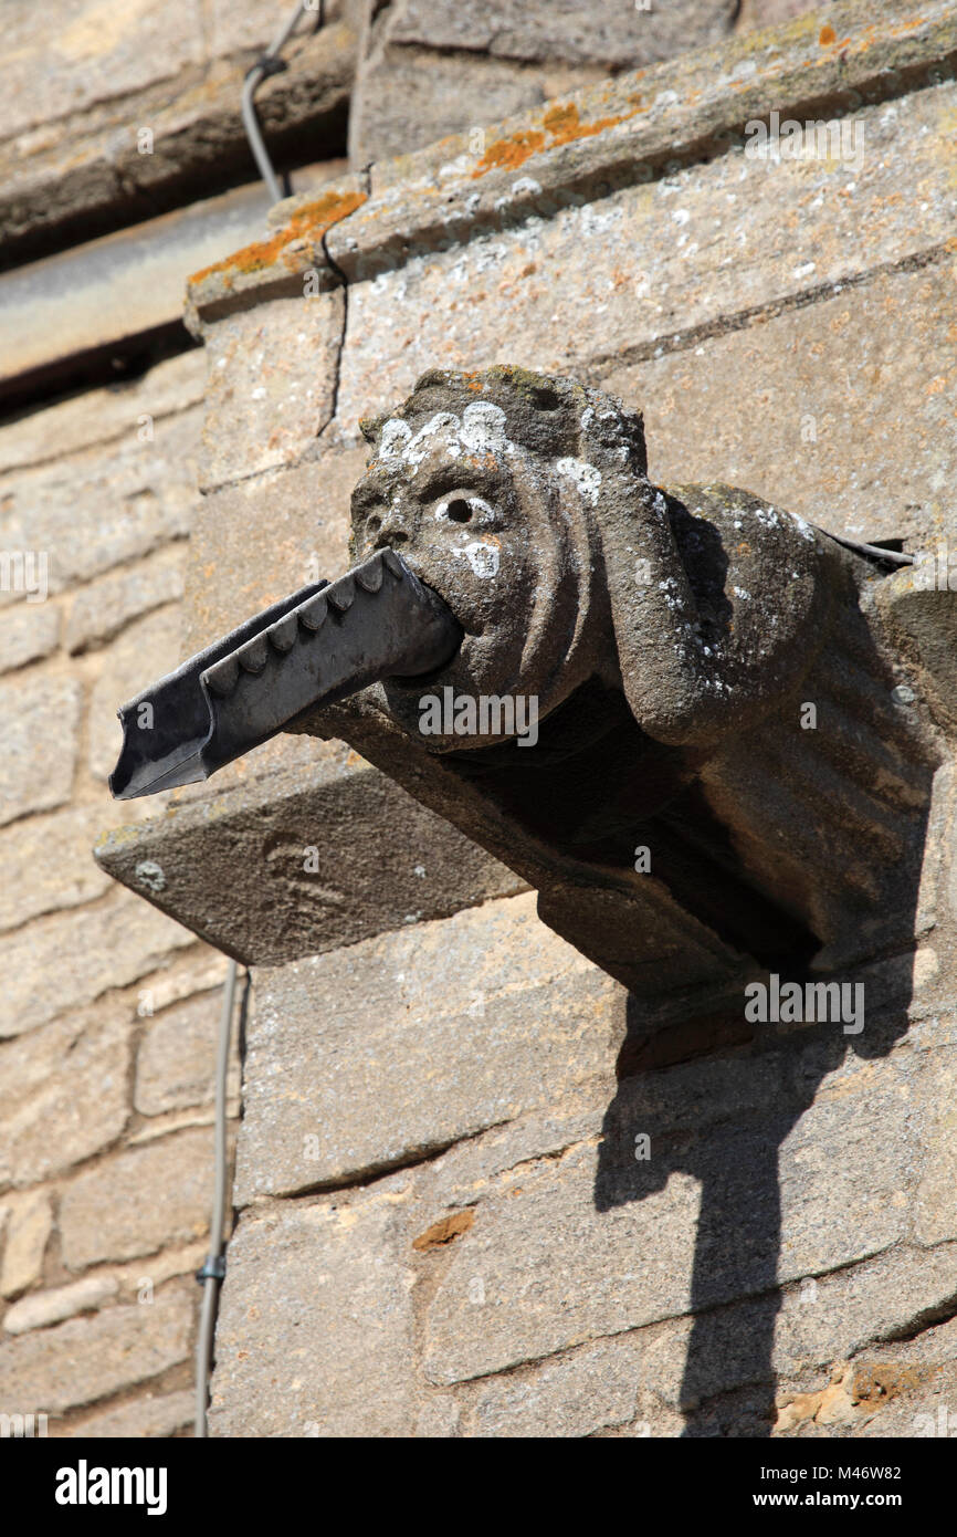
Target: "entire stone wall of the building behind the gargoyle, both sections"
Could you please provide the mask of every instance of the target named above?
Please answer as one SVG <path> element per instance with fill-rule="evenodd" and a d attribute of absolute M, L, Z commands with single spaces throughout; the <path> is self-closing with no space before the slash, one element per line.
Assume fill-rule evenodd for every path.
<path fill-rule="evenodd" d="M 802 6 L 599 9 L 327 6 L 263 111 L 321 180 L 352 94 L 355 175 L 220 264 L 260 223 L 258 189 L 207 198 L 250 175 L 238 88 L 286 6 L 77 0 L 55 57 L 14 8 L 0 301 L 43 303 L 3 360 L 31 403 L 0 424 L 0 549 L 46 553 L 49 596 L 0 592 L 0 1411 L 51 1434 L 189 1425 L 221 951 L 253 1010 L 214 1434 L 909 1436 L 957 1411 L 949 768 L 866 1047 L 679 1021 L 654 1057 L 522 882 L 343 744 L 106 798 L 121 699 L 343 569 L 358 417 L 436 363 L 621 393 L 657 480 L 949 536 L 946 8 L 757 40 Z M 750 117 L 808 103 L 862 124 L 860 166 L 743 155 Z M 204 358 L 155 274 L 209 261 Z M 120 343 L 151 366 L 106 387 Z"/>

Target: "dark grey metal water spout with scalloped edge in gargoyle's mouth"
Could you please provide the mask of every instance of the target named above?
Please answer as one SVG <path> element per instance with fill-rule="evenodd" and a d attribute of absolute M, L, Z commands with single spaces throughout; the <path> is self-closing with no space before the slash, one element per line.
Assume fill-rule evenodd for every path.
<path fill-rule="evenodd" d="M 109 778 L 129 801 L 207 779 L 304 710 L 384 678 L 445 667 L 462 639 L 449 606 L 392 549 L 290 593 L 124 704 Z"/>

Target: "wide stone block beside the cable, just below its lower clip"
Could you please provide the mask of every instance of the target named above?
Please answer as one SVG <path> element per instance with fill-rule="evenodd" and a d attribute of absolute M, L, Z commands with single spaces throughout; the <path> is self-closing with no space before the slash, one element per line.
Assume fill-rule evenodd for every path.
<path fill-rule="evenodd" d="M 157 1377 L 186 1360 L 195 1299 L 186 1286 L 152 1306 L 103 1308 L 0 1343 L 0 1403 L 57 1414 Z"/>

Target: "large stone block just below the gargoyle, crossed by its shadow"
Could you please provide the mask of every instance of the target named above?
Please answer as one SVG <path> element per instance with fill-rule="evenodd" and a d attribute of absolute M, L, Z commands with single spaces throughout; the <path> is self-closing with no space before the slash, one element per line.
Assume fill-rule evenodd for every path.
<path fill-rule="evenodd" d="M 737 1077 L 739 1102 L 724 1110 L 720 1093 L 705 1091 L 705 1064 L 625 1081 L 598 1153 L 573 1147 L 502 1177 L 455 1245 L 430 1303 L 430 1380 L 501 1371 L 588 1336 L 767 1290 L 774 1274 L 820 1274 L 906 1239 L 909 1100 L 925 1074 L 949 1068 L 896 1054 L 851 1059 L 828 1073 L 826 1059 L 828 1047 L 817 1041 L 797 1061 L 786 1053 L 759 1062 L 756 1081 L 747 1059 L 725 1064 L 728 1088 Z M 822 1068 L 816 1100 L 806 1104 L 806 1096 L 802 1113 L 791 1099 L 788 1110 L 785 1085 L 814 1084 Z M 688 1099 L 694 1081 L 696 1111 Z M 680 1096 L 677 1122 L 657 1100 L 659 1085 Z M 768 1104 L 776 1111 L 762 1116 Z M 871 1131 L 877 1119 L 885 1131 L 879 1142 Z M 651 1139 L 648 1162 L 636 1160 L 637 1133 Z M 728 1231 L 733 1248 L 722 1239 Z M 696 1242 L 708 1245 L 711 1259 L 707 1271 L 697 1266 L 691 1294 Z"/>

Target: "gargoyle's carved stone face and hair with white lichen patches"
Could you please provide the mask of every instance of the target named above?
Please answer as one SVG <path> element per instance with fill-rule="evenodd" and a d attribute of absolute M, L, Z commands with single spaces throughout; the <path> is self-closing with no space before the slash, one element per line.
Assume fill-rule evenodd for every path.
<path fill-rule="evenodd" d="M 573 380 L 495 367 L 426 373 L 363 430 L 373 456 L 352 496 L 352 553 L 390 546 L 452 607 L 464 639 L 436 681 L 536 696 L 544 716 L 613 669 L 598 642 L 607 604 L 587 513 L 613 481 L 644 475 L 641 417 Z M 415 730 L 422 681 L 382 689 L 389 713 Z"/>

